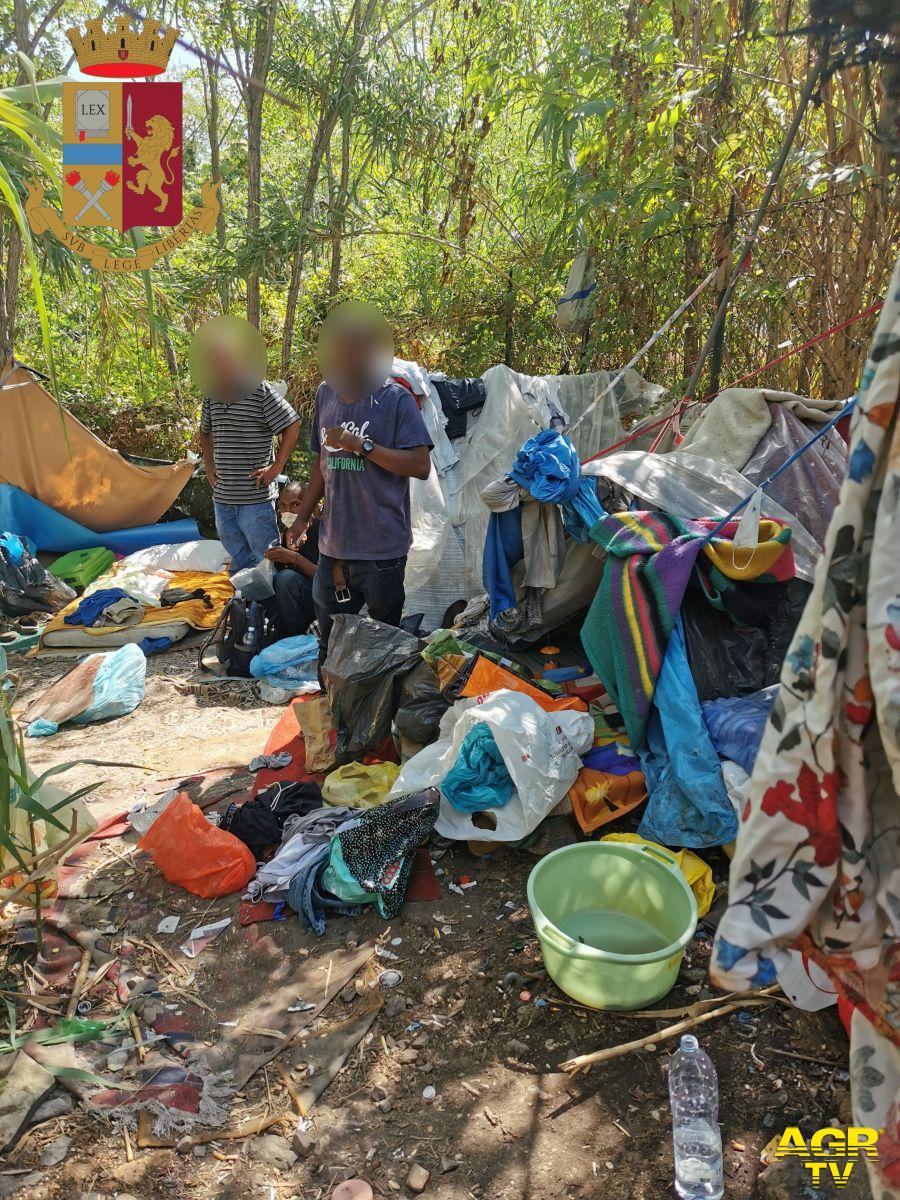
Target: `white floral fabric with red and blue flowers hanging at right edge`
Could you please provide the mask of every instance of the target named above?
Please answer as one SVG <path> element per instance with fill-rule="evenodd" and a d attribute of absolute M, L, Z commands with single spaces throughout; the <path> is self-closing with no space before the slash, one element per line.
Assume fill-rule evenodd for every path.
<path fill-rule="evenodd" d="M 883 1129 L 900 1198 L 900 263 L 853 414 L 847 476 L 754 767 L 715 983 L 772 983 L 800 952 L 856 1006 L 854 1121 Z"/>

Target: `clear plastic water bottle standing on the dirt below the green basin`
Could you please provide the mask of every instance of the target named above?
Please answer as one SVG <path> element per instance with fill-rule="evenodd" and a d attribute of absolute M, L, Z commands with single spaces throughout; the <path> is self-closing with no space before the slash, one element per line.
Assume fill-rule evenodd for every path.
<path fill-rule="evenodd" d="M 685 1033 L 668 1064 L 676 1192 L 682 1200 L 721 1200 L 722 1135 L 719 1080 L 709 1055 Z"/>

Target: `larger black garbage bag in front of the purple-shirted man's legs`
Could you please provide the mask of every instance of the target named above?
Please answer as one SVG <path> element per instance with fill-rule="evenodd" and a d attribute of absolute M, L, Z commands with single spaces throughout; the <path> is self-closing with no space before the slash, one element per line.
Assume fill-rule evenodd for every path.
<path fill-rule="evenodd" d="M 337 732 L 335 758 L 353 762 L 390 737 L 403 682 L 421 661 L 418 637 L 371 617 L 337 616 L 322 678 Z"/>

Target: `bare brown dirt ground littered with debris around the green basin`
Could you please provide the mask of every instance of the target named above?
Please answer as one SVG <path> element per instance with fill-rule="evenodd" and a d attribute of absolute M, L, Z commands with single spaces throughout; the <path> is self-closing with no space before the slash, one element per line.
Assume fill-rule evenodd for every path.
<path fill-rule="evenodd" d="M 68 665 L 13 660 L 22 671 L 22 700 Z M 214 767 L 245 769 L 263 750 L 281 710 L 256 700 L 248 686 L 221 685 L 202 695 L 184 690 L 192 670 L 191 652 L 151 659 L 145 700 L 131 716 L 30 740 L 32 766 L 78 757 L 130 763 L 80 767 L 66 776 L 73 785 L 100 781 L 89 800 L 100 816 L 152 798 L 173 776 Z M 569 818 L 553 818 L 546 844 L 572 836 Z M 126 835 L 94 844 L 89 868 L 97 886 L 90 895 L 106 899 L 70 900 L 66 916 L 76 925 L 114 926 L 115 943 L 155 936 L 162 916 L 179 913 L 180 930 L 157 938 L 178 959 L 190 922 L 236 914 L 238 896 L 210 904 L 166 883 L 134 841 Z M 708 858 L 724 882 L 725 858 Z M 359 996 L 353 988 L 343 990 L 312 1026 L 313 1032 L 332 1028 L 379 995 L 391 1001 L 391 1010 L 400 1007 L 392 997 L 404 1000 L 396 1015 L 379 1012 L 371 1033 L 312 1109 L 314 1148 L 308 1157 L 278 1168 L 265 1138 L 220 1141 L 197 1152 L 184 1146 L 180 1152 L 143 1150 L 133 1132 L 126 1146 L 121 1129 L 76 1109 L 34 1127 L 7 1154 L 0 1196 L 325 1200 L 336 1182 L 356 1175 L 376 1195 L 412 1196 L 407 1178 L 413 1164 L 430 1172 L 424 1195 L 431 1200 L 671 1196 L 666 1067 L 673 1044 L 659 1042 L 577 1076 L 559 1069 L 575 1054 L 650 1034 L 667 1022 L 586 1010 L 546 978 L 526 900 L 534 862 L 526 852 L 476 858 L 451 848 L 434 864 L 443 896 L 407 904 L 389 928 L 371 911 L 353 920 L 332 917 L 320 940 L 304 932 L 294 917 L 245 928 L 235 920 L 190 964 L 196 978 L 181 994 L 167 994 L 160 983 L 169 1008 L 211 1042 L 218 1022 L 234 1015 L 233 997 L 239 995 L 241 1003 L 263 998 L 275 980 L 289 979 L 311 959 L 326 964 L 348 943 L 367 938 L 380 940 L 397 955 L 396 962 L 374 961 L 378 970 L 402 972 L 398 988 L 382 994 L 361 983 Z M 460 876 L 475 881 L 461 895 L 448 887 Z M 660 1007 L 713 995 L 706 982 L 709 953 L 710 931 L 701 925 L 678 984 Z M 145 976 L 172 977 L 166 960 L 145 948 L 128 961 Z M 62 991 L 68 988 L 71 977 Z M 92 995 L 92 1016 L 116 1010 L 113 988 Z M 768 1200 L 757 1183 L 760 1152 L 775 1134 L 791 1124 L 809 1133 L 848 1122 L 844 1033 L 834 1010 L 809 1015 L 772 1003 L 710 1022 L 700 1037 L 719 1072 L 726 1195 Z M 289 1078 L 301 1086 L 308 1078 L 302 1045 L 282 1057 Z M 434 1088 L 432 1100 L 422 1094 L 428 1087 Z M 272 1064 L 246 1086 L 230 1118 L 282 1111 L 290 1111 L 290 1099 Z M 295 1121 L 292 1116 L 283 1127 L 283 1147 L 290 1145 Z M 42 1168 L 42 1151 L 60 1135 L 72 1138 L 65 1159 Z"/>

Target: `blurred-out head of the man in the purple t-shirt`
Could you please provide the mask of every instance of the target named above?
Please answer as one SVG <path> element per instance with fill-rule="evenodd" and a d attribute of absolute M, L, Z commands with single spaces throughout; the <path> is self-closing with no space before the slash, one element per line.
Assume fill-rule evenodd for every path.
<path fill-rule="evenodd" d="M 394 359 L 388 322 L 372 305 L 338 305 L 319 331 L 319 367 L 343 400 L 362 400 L 382 386 Z"/>

